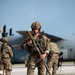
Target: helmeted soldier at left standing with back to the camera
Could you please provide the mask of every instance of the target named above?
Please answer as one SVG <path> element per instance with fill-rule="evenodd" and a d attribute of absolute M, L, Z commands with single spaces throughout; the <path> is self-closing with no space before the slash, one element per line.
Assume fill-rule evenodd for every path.
<path fill-rule="evenodd" d="M 8 38 L 4 37 L 2 39 L 3 44 L 0 45 L 0 53 L 1 53 L 1 71 L 0 75 L 4 75 L 4 69 L 6 70 L 6 75 L 11 75 L 12 65 L 11 65 L 11 57 L 13 57 L 13 51 L 10 46 L 8 46 Z M 3 74 L 2 74 L 3 73 Z"/>

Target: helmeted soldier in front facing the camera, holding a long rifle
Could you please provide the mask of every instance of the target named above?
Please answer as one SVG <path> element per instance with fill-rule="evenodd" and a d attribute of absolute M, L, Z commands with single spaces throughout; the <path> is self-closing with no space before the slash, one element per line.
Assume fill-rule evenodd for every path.
<path fill-rule="evenodd" d="M 27 38 L 26 40 L 24 40 L 24 42 L 22 43 L 22 48 L 26 49 L 30 53 L 27 64 L 27 75 L 34 75 L 34 70 L 36 67 L 38 68 L 38 75 L 44 75 L 45 65 L 44 62 L 41 61 L 41 59 L 44 59 L 49 53 L 47 45 L 48 38 L 45 35 L 40 34 L 41 24 L 39 22 L 33 22 L 31 25 L 31 29 L 31 34 L 34 40 L 37 40 L 40 43 L 43 53 L 39 55 L 37 50 L 35 50 L 31 38 Z"/>

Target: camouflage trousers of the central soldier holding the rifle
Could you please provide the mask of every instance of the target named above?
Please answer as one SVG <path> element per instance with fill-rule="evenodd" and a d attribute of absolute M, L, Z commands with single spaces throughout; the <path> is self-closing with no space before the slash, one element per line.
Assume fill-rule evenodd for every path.
<path fill-rule="evenodd" d="M 35 68 L 38 68 L 38 75 L 45 75 L 45 65 L 39 57 L 30 55 L 27 64 L 27 75 L 34 75 Z"/>

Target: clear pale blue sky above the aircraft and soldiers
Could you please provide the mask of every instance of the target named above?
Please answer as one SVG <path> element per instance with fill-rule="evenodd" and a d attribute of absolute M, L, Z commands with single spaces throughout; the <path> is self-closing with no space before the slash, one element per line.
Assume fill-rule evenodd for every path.
<path fill-rule="evenodd" d="M 7 32 L 30 30 L 35 21 L 51 35 L 75 34 L 75 0 L 0 0 L 0 27 Z"/>

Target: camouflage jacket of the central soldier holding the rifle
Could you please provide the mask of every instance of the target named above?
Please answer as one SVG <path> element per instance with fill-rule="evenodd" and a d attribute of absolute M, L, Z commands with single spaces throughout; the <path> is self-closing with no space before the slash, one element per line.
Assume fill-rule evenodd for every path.
<path fill-rule="evenodd" d="M 45 35 L 40 35 L 35 39 L 35 36 L 33 36 L 34 40 L 37 41 L 40 45 L 40 48 L 42 48 L 44 53 L 49 53 L 49 47 L 48 47 L 48 38 Z M 38 54 L 35 50 L 34 44 L 31 44 L 30 46 L 27 45 L 27 40 L 29 38 L 26 38 L 22 43 L 22 48 L 26 49 L 29 53 L 32 54 Z M 37 46 L 38 47 L 38 46 Z"/>

